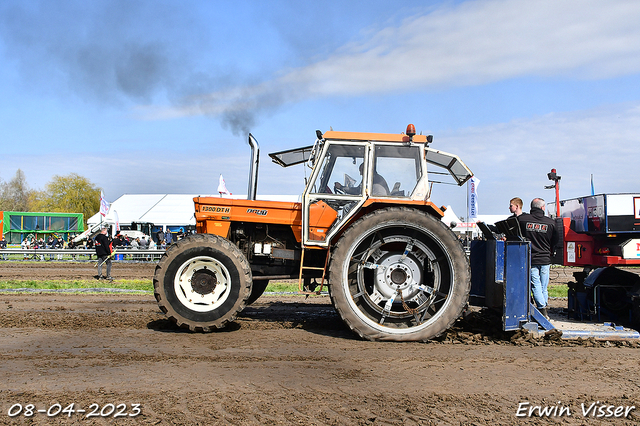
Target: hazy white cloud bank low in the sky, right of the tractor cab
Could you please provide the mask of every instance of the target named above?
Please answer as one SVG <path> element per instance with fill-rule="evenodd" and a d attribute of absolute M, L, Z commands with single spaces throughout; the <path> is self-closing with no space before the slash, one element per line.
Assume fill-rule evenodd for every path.
<path fill-rule="evenodd" d="M 555 199 L 544 189 L 552 168 L 562 176 L 562 199 L 589 195 L 591 174 L 596 193 L 639 192 L 639 139 L 640 105 L 625 104 L 461 129 L 438 135 L 437 145 L 458 154 L 481 180 L 481 213 L 500 214 L 512 197 L 525 205 L 534 197 Z M 444 196 L 434 200 L 439 204 L 456 204 L 446 199 L 456 197 L 455 211 L 464 211 L 464 191 L 436 188 L 436 194 Z"/>

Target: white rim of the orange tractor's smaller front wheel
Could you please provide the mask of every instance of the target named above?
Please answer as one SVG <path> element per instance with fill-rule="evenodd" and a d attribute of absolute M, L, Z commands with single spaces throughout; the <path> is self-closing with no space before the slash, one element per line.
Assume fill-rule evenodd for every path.
<path fill-rule="evenodd" d="M 229 297 L 231 276 L 215 258 L 199 256 L 178 268 L 173 286 L 184 306 L 196 312 L 209 312 L 220 307 Z"/>

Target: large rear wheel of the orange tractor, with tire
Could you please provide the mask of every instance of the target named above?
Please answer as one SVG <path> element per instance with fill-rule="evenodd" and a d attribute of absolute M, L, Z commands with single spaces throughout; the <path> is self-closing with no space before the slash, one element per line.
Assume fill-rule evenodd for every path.
<path fill-rule="evenodd" d="M 408 208 L 370 213 L 347 229 L 330 265 L 331 300 L 367 340 L 424 341 L 460 316 L 471 287 L 462 245 L 441 221 Z"/>

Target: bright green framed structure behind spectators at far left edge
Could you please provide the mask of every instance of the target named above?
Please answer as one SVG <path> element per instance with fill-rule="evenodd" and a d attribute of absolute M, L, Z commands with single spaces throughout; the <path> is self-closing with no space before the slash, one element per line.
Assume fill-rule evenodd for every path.
<path fill-rule="evenodd" d="M 51 234 L 68 241 L 70 234 L 84 232 L 82 213 L 0 212 L 0 219 L 9 244 L 20 244 L 29 236 L 46 240 Z"/>

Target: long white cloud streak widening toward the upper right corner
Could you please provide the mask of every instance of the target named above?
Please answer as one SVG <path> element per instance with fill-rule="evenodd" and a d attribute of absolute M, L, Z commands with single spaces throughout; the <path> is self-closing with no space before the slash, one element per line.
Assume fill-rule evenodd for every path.
<path fill-rule="evenodd" d="M 301 99 L 441 90 L 521 76 L 640 71 L 640 3 L 467 1 L 381 28 L 331 57 L 253 86 L 194 97 L 148 118 L 272 109 Z"/>

